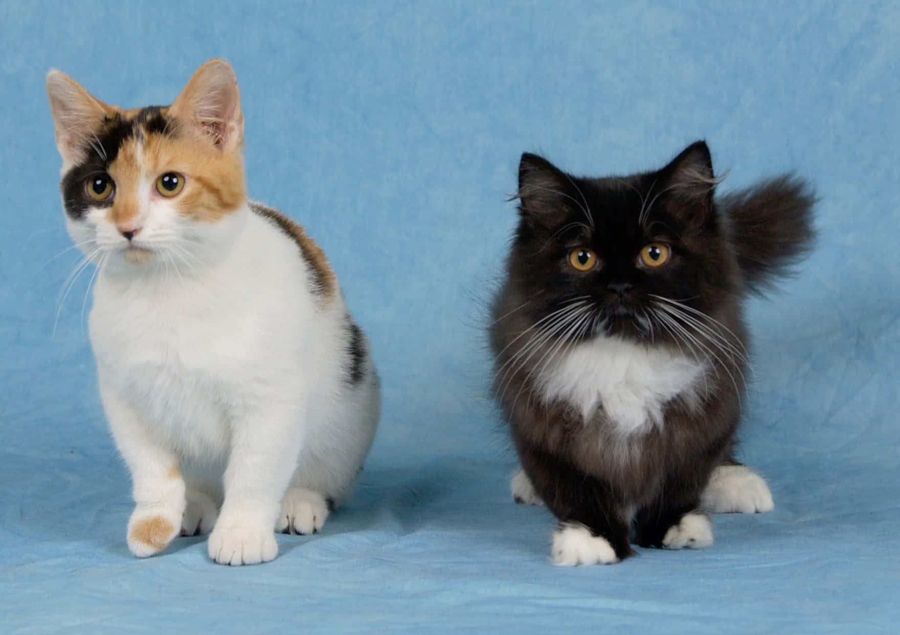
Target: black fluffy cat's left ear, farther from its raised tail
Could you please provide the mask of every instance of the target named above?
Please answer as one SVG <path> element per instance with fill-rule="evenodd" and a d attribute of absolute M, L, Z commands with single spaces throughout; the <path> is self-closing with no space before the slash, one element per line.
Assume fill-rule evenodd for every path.
<path fill-rule="evenodd" d="M 569 178 L 544 157 L 526 152 L 518 163 L 518 210 L 538 225 L 553 225 L 568 198 Z"/>

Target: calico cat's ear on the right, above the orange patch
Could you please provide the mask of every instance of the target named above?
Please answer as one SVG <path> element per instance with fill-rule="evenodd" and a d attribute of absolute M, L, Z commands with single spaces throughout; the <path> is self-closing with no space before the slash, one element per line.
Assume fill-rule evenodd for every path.
<path fill-rule="evenodd" d="M 238 148 L 244 138 L 238 78 L 224 59 L 198 68 L 169 112 L 220 150 Z"/>

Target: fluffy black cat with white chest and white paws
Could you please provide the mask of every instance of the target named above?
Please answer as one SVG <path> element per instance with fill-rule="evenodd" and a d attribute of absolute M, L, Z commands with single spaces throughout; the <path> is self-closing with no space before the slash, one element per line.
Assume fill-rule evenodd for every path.
<path fill-rule="evenodd" d="M 494 383 L 522 466 L 513 495 L 559 519 L 554 562 L 705 547 L 706 511 L 769 511 L 765 481 L 733 454 L 742 305 L 811 249 L 810 187 L 784 175 L 714 198 L 702 141 L 622 177 L 525 154 L 518 179 Z"/>

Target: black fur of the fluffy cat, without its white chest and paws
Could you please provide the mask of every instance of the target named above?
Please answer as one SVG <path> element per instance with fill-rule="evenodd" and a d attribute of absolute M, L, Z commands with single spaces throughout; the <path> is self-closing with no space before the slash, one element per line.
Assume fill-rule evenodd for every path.
<path fill-rule="evenodd" d="M 522 467 L 561 528 L 583 525 L 617 559 L 633 553 L 631 541 L 662 546 L 698 509 L 712 470 L 733 461 L 747 363 L 743 299 L 813 244 L 814 196 L 803 181 L 780 176 L 721 198 L 715 186 L 702 141 L 662 170 L 623 177 L 575 177 L 531 154 L 519 165 L 520 219 L 492 305 L 495 389 Z M 639 253 L 652 243 L 670 247 L 669 261 L 642 267 Z M 598 256 L 589 272 L 570 264 L 579 247 Z M 548 319 L 577 298 L 587 299 L 588 319 L 582 311 L 568 328 Z M 536 365 L 603 337 L 704 362 L 695 398 L 671 398 L 662 425 L 634 434 L 602 404 L 586 418 L 563 400 L 548 403 Z"/>

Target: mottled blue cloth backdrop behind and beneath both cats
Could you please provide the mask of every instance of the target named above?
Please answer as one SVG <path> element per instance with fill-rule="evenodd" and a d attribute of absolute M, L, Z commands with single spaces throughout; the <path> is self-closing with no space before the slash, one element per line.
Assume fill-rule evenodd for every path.
<path fill-rule="evenodd" d="M 59 205 L 44 93 L 170 103 L 235 67 L 251 196 L 315 237 L 372 340 L 383 418 L 347 505 L 225 568 L 139 560 Z M 0 3 L 0 632 L 900 629 L 900 4 Z M 522 151 L 578 174 L 707 139 L 722 191 L 797 170 L 815 255 L 751 300 L 742 458 L 776 509 L 716 543 L 554 568 L 514 505 L 483 330 Z"/>

